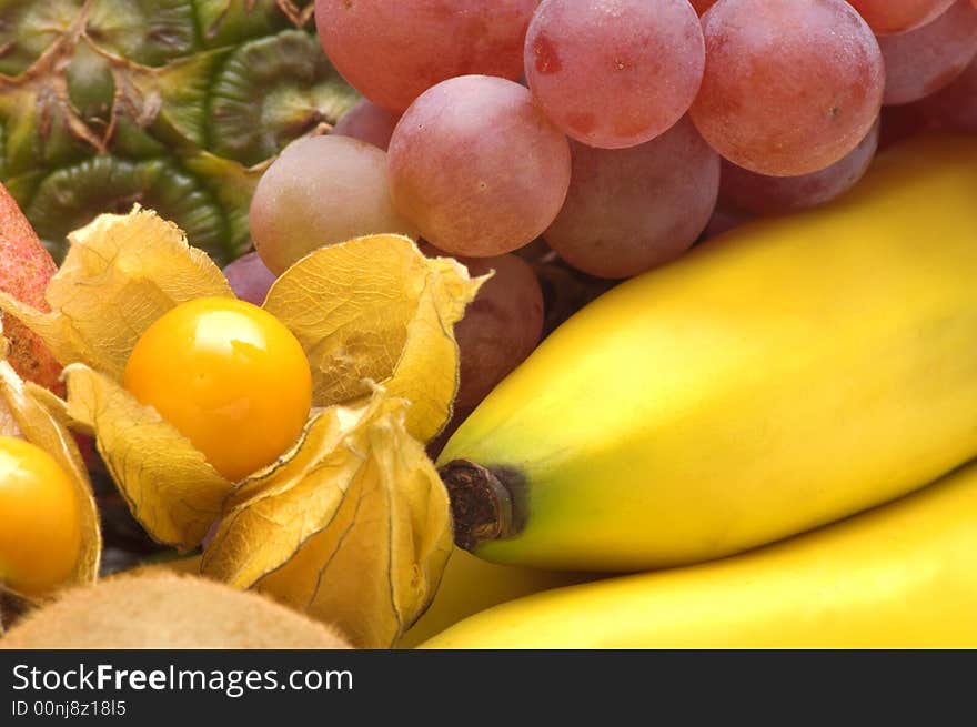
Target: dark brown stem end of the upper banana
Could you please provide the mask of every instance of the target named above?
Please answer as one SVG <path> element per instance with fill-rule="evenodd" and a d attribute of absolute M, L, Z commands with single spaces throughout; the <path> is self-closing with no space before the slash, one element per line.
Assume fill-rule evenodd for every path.
<path fill-rule="evenodd" d="M 439 474 L 451 499 L 455 545 L 473 551 L 480 543 L 514 537 L 522 531 L 525 481 L 518 471 L 453 460 Z"/>

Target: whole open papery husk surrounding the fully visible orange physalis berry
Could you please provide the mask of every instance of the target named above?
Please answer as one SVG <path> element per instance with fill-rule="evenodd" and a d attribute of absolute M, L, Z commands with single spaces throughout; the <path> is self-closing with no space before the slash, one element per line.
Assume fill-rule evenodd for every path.
<path fill-rule="evenodd" d="M 485 279 L 397 235 L 324 248 L 285 271 L 265 309 L 309 356 L 313 414 L 290 452 L 235 488 L 120 383 L 157 319 L 232 294 L 223 274 L 150 211 L 102 215 L 70 240 L 47 290 L 51 313 L 0 306 L 66 365 L 68 405 L 48 405 L 95 435 L 134 516 L 181 549 L 220 519 L 208 575 L 339 623 L 360 645 L 392 645 L 451 551 L 447 496 L 420 442 L 451 416 L 452 326 Z"/>

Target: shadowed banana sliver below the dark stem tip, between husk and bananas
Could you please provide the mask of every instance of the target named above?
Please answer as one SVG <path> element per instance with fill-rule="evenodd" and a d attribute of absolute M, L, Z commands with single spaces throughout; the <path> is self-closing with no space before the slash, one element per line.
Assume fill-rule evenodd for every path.
<path fill-rule="evenodd" d="M 495 565 L 455 548 L 431 606 L 397 643 L 414 648 L 463 618 L 506 600 L 596 579 L 596 574 Z"/>

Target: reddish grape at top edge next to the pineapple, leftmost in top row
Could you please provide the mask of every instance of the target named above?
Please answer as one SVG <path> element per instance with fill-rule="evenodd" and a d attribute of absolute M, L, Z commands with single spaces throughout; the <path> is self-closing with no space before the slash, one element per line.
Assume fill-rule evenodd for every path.
<path fill-rule="evenodd" d="M 523 74 L 540 0 L 316 0 L 326 55 L 360 93 L 394 112 L 456 75 Z"/>

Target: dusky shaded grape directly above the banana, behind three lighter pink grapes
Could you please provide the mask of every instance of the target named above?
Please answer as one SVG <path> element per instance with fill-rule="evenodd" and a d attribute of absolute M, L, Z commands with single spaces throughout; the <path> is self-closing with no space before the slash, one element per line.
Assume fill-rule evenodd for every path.
<path fill-rule="evenodd" d="M 629 277 L 677 258 L 716 206 L 719 158 L 687 118 L 631 149 L 572 150 L 570 192 L 543 236 L 591 275 Z"/>

